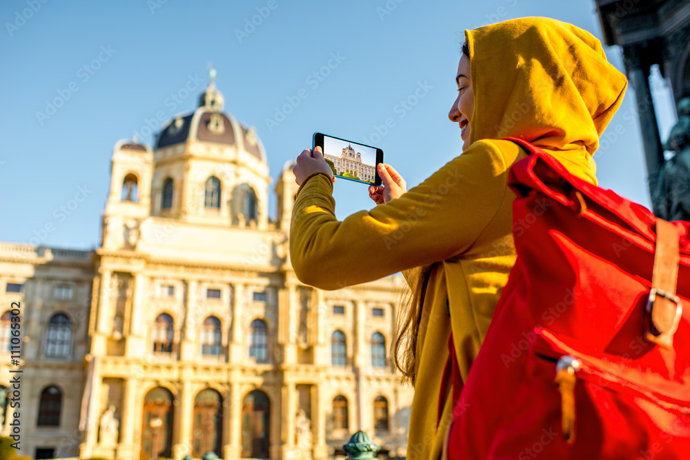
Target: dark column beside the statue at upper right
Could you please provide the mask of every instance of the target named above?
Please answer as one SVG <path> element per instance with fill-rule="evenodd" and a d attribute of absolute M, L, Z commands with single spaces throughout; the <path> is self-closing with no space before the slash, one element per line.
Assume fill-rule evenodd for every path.
<path fill-rule="evenodd" d="M 626 46 L 623 50 L 628 79 L 635 90 L 640 131 L 642 131 L 642 147 L 647 163 L 647 180 L 651 192 L 655 188 L 659 169 L 664 163 L 664 152 L 661 148 L 654 103 L 649 90 L 649 62 L 645 62 L 642 53 L 639 46 Z"/>

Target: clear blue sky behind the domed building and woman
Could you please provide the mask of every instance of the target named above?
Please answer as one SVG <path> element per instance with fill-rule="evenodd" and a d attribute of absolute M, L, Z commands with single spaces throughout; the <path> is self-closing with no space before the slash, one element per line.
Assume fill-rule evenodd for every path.
<path fill-rule="evenodd" d="M 26 10 L 31 3 L 35 12 Z M 260 24 L 244 30 L 260 12 Z M 28 242 L 52 223 L 41 244 L 97 246 L 115 142 L 146 132 L 146 120 L 161 110 L 166 119 L 194 110 L 208 61 L 226 111 L 257 128 L 271 191 L 284 163 L 311 148 L 315 131 L 383 148 L 414 186 L 461 151 L 460 130 L 446 114 L 464 29 L 523 16 L 569 21 L 601 38 L 593 0 L 3 0 L 0 241 Z M 607 54 L 622 69 L 620 50 Z M 326 77 L 313 76 L 329 63 Z M 186 85 L 198 87 L 169 99 Z M 665 138 L 675 112 L 663 82 L 656 86 Z M 415 106 L 400 105 L 415 101 L 415 92 Z M 64 105 L 38 117 L 59 94 Z M 299 106 L 276 117 L 295 98 Z M 640 130 L 623 117 L 633 105 L 629 88 L 611 123 L 624 134 L 596 157 L 598 177 L 604 188 L 649 206 Z M 379 139 L 377 126 L 387 130 Z M 56 214 L 80 187 L 86 199 L 69 216 Z M 336 183 L 335 199 L 339 218 L 373 207 L 366 185 L 351 181 Z"/>

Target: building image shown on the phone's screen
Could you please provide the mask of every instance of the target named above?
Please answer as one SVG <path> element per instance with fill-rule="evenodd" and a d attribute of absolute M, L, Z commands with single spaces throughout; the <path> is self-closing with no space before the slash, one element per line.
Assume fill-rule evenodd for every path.
<path fill-rule="evenodd" d="M 324 159 L 333 163 L 331 168 L 337 176 L 374 183 L 376 149 L 373 147 L 324 136 Z"/>

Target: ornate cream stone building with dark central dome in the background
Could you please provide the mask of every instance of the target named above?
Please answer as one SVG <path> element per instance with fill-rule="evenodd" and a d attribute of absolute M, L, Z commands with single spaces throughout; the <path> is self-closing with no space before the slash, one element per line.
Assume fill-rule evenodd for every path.
<path fill-rule="evenodd" d="M 365 430 L 404 456 L 413 390 L 388 358 L 400 276 L 300 283 L 290 164 L 210 86 L 157 134 L 119 141 L 95 251 L 0 244 L 21 305 L 21 450 L 36 459 L 325 459 Z M 10 312 L 0 361 L 10 386 Z M 8 408 L 3 434 L 11 432 Z"/>

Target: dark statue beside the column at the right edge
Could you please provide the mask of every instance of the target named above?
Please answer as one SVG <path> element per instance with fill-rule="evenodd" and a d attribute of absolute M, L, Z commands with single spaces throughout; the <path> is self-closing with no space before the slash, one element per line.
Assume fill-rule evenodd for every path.
<path fill-rule="evenodd" d="M 676 154 L 659 171 L 652 193 L 654 213 L 667 221 L 690 221 L 690 97 L 678 103 L 678 123 L 664 150 Z"/>

